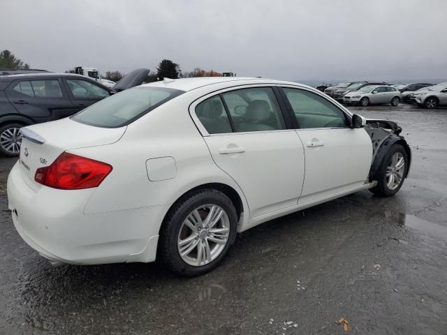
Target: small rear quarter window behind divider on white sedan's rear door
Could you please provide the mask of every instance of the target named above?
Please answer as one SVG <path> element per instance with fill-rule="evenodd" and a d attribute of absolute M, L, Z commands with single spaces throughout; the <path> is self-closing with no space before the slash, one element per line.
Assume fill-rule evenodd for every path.
<path fill-rule="evenodd" d="M 220 96 L 213 96 L 199 103 L 196 107 L 196 115 L 209 134 L 232 132 Z"/>

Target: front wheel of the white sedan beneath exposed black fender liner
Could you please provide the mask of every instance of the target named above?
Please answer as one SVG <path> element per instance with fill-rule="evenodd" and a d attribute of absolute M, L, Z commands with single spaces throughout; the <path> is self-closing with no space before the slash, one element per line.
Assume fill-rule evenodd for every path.
<path fill-rule="evenodd" d="M 395 157 L 397 157 L 397 161 L 395 161 Z M 400 169 L 393 169 L 393 165 L 398 163 L 399 159 L 404 159 L 404 165 Z M 391 174 L 393 174 L 393 182 L 390 184 L 390 177 L 387 176 L 387 172 L 392 170 Z M 371 188 L 369 191 L 374 193 L 374 195 L 378 195 L 380 197 L 390 197 L 395 195 L 402 184 L 404 184 L 404 179 L 406 176 L 406 171 L 408 170 L 408 156 L 404 147 L 401 144 L 393 144 L 392 147 L 388 150 L 385 158 L 383 158 L 383 162 L 379 170 L 377 171 L 376 178 L 374 180 L 377 181 L 377 185 L 374 188 Z M 396 180 L 400 176 L 400 179 Z"/>

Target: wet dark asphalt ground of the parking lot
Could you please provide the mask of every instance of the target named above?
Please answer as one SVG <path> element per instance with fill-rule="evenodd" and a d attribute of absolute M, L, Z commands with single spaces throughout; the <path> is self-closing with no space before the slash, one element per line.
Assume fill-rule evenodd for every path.
<path fill-rule="evenodd" d="M 413 149 L 393 198 L 362 191 L 240 234 L 198 278 L 52 267 L 22 241 L 0 158 L 0 334 L 447 334 L 447 110 L 351 108 Z M 328 172 L 330 173 L 330 172 Z"/>

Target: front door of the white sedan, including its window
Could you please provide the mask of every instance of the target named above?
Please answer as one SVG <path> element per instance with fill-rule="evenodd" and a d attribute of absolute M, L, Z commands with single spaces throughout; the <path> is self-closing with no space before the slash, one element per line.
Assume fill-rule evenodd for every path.
<path fill-rule="evenodd" d="M 305 148 L 305 182 L 298 203 L 365 184 L 372 163 L 365 129 L 351 128 L 349 114 L 322 94 L 295 87 L 282 87 L 281 92 Z"/>

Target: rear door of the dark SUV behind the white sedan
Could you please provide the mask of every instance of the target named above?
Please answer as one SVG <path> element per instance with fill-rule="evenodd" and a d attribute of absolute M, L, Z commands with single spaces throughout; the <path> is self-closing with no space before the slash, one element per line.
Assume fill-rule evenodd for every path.
<path fill-rule="evenodd" d="M 71 100 L 57 77 L 17 80 L 5 92 L 17 112 L 36 123 L 68 117 L 73 112 Z"/>

